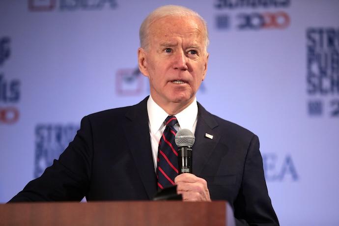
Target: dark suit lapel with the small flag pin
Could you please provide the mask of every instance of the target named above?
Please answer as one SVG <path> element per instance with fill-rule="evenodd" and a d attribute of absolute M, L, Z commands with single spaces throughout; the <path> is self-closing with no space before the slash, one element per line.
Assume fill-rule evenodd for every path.
<path fill-rule="evenodd" d="M 221 135 L 213 130 L 217 126 L 218 123 L 214 117 L 198 103 L 198 123 L 195 132 L 196 141 L 192 147 L 192 169 L 193 173 L 197 176 L 201 174 L 202 169 L 220 140 Z M 206 137 L 206 134 L 212 135 L 213 138 L 211 139 L 208 135 Z"/>

